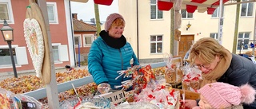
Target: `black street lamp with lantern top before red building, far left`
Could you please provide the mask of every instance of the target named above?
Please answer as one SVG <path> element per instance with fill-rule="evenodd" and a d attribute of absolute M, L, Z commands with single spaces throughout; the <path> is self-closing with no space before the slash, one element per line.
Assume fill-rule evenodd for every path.
<path fill-rule="evenodd" d="M 14 76 L 17 78 L 17 71 L 16 71 L 16 67 L 15 67 L 15 63 L 14 63 L 14 55 L 13 55 L 13 50 L 11 48 L 11 41 L 14 41 L 14 29 L 11 28 L 8 24 L 6 19 L 3 21 L 3 26 L 2 29 L 0 29 L 2 32 L 2 37 L 5 41 L 7 41 L 7 44 L 9 46 L 9 51 L 10 51 L 10 59 L 11 59 L 11 63 L 13 64 L 13 68 L 14 68 Z"/>

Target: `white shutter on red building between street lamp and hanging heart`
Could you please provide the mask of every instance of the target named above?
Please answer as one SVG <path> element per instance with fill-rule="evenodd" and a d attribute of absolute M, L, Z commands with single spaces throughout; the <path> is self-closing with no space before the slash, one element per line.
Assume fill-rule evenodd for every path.
<path fill-rule="evenodd" d="M 29 64 L 27 60 L 26 47 L 15 47 L 17 64 Z"/>

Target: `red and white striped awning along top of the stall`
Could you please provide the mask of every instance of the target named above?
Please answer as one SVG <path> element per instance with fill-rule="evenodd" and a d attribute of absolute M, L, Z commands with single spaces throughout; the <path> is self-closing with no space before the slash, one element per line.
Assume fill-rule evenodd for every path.
<path fill-rule="evenodd" d="M 213 14 L 214 10 L 219 6 L 220 0 L 158 0 L 158 10 L 170 10 L 174 6 L 174 2 L 182 1 L 182 9 L 186 9 L 188 13 L 194 13 L 198 10 L 199 13 Z M 229 0 L 223 0 L 223 4 Z M 94 0 L 94 3 L 110 6 L 113 0 Z"/>

